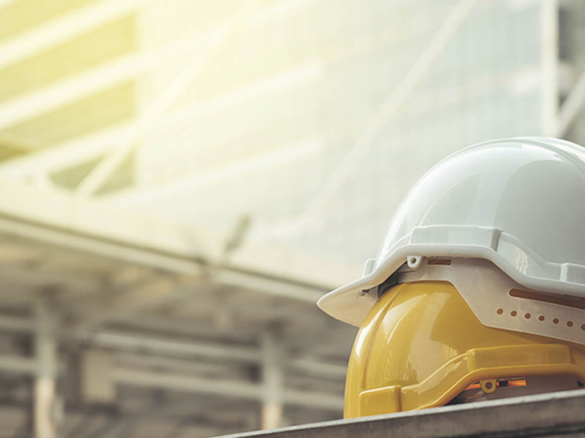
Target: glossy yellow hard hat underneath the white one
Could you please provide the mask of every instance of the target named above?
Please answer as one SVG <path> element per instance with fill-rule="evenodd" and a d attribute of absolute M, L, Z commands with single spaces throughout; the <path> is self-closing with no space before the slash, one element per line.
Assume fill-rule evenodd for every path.
<path fill-rule="evenodd" d="M 539 324 L 537 315 L 531 319 Z M 500 317 L 525 319 L 515 311 Z M 540 324 L 553 322 L 547 318 Z M 344 416 L 444 405 L 476 382 L 491 381 L 495 390 L 501 378 L 530 383 L 535 377 L 561 376 L 570 377 L 574 388 L 577 380 L 585 381 L 585 346 L 488 327 L 452 284 L 407 282 L 386 291 L 357 332 L 347 367 Z M 538 384 L 533 388 L 542 392 Z M 508 396 L 522 395 L 511 389 Z M 560 389 L 568 388 L 548 388 Z M 501 390 L 508 388 L 498 387 L 496 398 Z"/>

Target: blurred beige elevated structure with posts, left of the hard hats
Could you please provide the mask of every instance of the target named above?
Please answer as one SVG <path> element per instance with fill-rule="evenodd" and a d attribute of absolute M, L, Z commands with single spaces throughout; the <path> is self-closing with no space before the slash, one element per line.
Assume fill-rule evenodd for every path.
<path fill-rule="evenodd" d="M 353 330 L 314 305 L 339 266 L 267 246 L 232 257 L 201 230 L 3 187 L 5 436 L 209 435 L 339 416 Z"/>

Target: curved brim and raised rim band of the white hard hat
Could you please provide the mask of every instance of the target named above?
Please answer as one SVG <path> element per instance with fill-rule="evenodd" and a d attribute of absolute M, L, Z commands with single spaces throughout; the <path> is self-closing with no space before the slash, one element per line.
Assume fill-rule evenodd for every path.
<path fill-rule="evenodd" d="M 420 243 L 429 241 L 441 243 Z M 377 296 L 364 291 L 383 283 L 412 256 L 485 259 L 522 286 L 585 297 L 583 265 L 547 262 L 519 239 L 497 228 L 432 225 L 413 228 L 371 273 L 325 294 L 317 305 L 333 318 L 359 327 L 377 300 Z"/>

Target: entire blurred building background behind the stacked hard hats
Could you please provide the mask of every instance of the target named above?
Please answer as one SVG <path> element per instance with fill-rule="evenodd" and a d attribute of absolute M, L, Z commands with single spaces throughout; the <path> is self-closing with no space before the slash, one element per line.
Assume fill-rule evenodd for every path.
<path fill-rule="evenodd" d="M 0 436 L 342 416 L 319 312 L 466 145 L 585 144 L 579 0 L 0 0 Z"/>

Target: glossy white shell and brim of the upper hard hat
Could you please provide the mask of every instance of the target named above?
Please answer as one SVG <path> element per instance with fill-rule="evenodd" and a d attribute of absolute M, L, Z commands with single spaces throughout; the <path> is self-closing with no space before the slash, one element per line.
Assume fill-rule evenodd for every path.
<path fill-rule="evenodd" d="M 402 265 L 486 259 L 532 290 L 585 297 L 585 150 L 555 138 L 487 141 L 443 159 L 398 207 L 363 276 L 318 301 L 359 326 Z"/>

